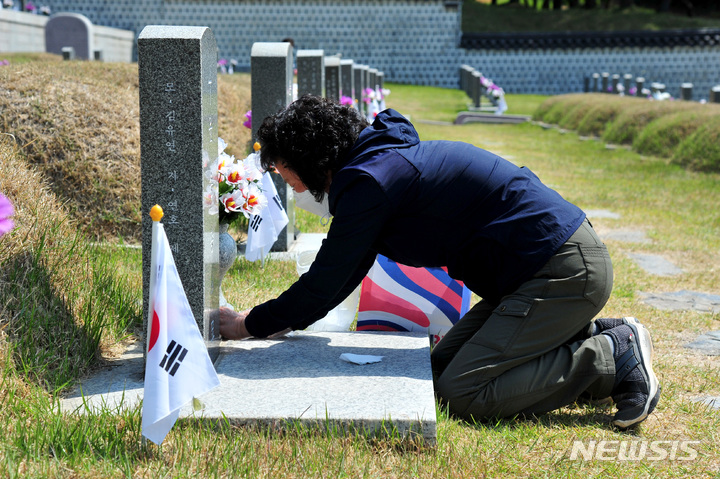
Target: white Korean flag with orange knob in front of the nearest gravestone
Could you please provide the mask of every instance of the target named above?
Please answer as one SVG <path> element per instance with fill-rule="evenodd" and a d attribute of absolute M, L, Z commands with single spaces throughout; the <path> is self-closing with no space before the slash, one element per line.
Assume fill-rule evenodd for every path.
<path fill-rule="evenodd" d="M 180 408 L 220 385 L 153 206 L 150 305 L 142 435 L 161 444 Z"/>

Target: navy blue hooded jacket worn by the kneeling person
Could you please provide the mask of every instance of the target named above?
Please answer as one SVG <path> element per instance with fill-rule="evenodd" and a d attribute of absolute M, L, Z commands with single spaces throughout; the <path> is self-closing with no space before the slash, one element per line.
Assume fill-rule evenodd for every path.
<path fill-rule="evenodd" d="M 250 334 L 302 329 L 339 304 L 377 253 L 410 266 L 447 266 L 489 301 L 530 279 L 585 213 L 527 168 L 475 146 L 423 141 L 386 110 L 360 134 L 330 186 L 332 224 L 310 270 L 256 306 Z"/>

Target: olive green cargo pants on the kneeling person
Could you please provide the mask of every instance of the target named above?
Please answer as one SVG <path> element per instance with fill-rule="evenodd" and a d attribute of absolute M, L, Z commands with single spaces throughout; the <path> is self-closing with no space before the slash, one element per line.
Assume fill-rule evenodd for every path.
<path fill-rule="evenodd" d="M 432 351 L 435 391 L 468 420 L 552 411 L 610 395 L 615 363 L 591 322 L 612 290 L 612 263 L 586 220 L 529 281 L 482 300 Z"/>

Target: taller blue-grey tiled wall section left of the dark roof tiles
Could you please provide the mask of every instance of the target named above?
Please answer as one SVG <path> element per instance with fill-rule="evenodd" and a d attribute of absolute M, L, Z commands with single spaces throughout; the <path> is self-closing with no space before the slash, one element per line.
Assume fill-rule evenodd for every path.
<path fill-rule="evenodd" d="M 208 26 L 219 56 L 249 71 L 255 42 L 291 37 L 296 49 L 371 65 L 394 82 L 457 84 L 459 2 L 447 0 L 46 0 L 53 12 L 75 12 L 96 25 Z"/>

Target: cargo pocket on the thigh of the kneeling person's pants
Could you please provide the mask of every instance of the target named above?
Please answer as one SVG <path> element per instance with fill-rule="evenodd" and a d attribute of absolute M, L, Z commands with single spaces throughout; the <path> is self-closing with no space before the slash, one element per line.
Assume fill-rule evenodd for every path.
<path fill-rule="evenodd" d="M 513 344 L 532 308 L 532 300 L 507 299 L 495 308 L 480 331 L 469 341 L 473 344 L 504 352 Z"/>

